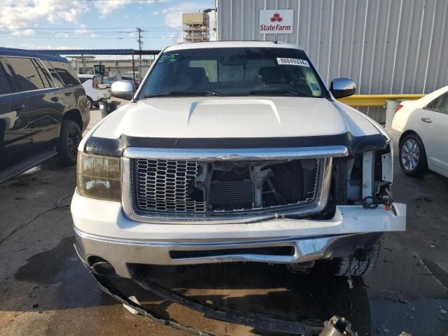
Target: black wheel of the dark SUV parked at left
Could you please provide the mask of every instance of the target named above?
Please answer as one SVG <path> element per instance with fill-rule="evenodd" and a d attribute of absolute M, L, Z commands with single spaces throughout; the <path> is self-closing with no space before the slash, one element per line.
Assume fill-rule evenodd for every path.
<path fill-rule="evenodd" d="M 83 134 L 77 123 L 72 120 L 62 121 L 57 153 L 59 153 L 65 165 L 71 166 L 76 164 L 78 145 L 82 137 Z"/>

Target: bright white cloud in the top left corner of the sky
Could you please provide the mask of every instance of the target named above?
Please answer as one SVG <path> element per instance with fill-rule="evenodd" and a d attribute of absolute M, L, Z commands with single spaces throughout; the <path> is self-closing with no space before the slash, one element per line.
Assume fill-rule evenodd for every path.
<path fill-rule="evenodd" d="M 87 10 L 86 0 L 2 0 L 0 28 L 14 30 L 31 27 L 40 20 L 76 23 Z"/>

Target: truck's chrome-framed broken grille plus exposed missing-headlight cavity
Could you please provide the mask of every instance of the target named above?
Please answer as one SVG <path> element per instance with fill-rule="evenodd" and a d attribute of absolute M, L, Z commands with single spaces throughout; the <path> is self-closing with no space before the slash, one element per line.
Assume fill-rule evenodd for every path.
<path fill-rule="evenodd" d="M 136 221 L 251 223 L 331 218 L 337 205 L 391 207 L 390 146 L 350 154 L 343 146 L 167 153 L 127 148 L 123 209 Z"/>

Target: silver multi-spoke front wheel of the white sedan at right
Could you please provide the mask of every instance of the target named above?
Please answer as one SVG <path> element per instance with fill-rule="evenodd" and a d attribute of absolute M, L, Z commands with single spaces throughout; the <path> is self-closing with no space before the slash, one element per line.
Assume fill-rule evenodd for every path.
<path fill-rule="evenodd" d="M 416 134 L 408 134 L 400 141 L 400 166 L 410 176 L 421 176 L 428 169 L 426 151 Z"/>

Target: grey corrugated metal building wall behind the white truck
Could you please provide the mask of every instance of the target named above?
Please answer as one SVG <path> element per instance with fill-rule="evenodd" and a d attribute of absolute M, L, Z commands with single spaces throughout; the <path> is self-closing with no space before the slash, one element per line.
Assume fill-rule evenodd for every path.
<path fill-rule="evenodd" d="M 260 9 L 293 9 L 277 40 L 308 53 L 326 83 L 348 77 L 361 94 L 428 93 L 448 85 L 448 0 L 217 0 L 218 40 L 258 34 Z M 380 109 L 365 111 L 382 120 Z"/>

